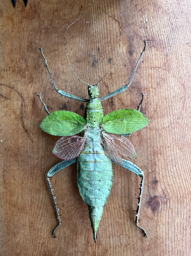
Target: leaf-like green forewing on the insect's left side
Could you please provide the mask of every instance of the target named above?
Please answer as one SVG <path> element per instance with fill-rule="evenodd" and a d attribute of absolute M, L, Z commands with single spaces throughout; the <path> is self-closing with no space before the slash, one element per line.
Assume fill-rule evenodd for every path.
<path fill-rule="evenodd" d="M 52 135 L 70 136 L 81 132 L 86 120 L 80 115 L 70 111 L 54 111 L 43 119 L 40 128 Z"/>

